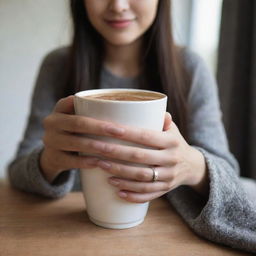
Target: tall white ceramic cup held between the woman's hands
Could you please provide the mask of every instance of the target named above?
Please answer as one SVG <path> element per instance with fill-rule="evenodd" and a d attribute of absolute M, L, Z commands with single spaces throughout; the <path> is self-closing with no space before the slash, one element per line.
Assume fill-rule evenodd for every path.
<path fill-rule="evenodd" d="M 136 89 L 95 89 L 78 92 L 74 99 L 75 113 L 122 125 L 162 131 L 167 104 L 167 96 L 164 94 L 153 92 L 160 98 L 146 101 L 85 98 L 94 94 L 134 91 L 152 92 Z M 87 134 L 85 136 L 122 145 L 136 145 L 111 137 Z M 81 169 L 80 175 L 87 213 L 92 222 L 106 228 L 124 229 L 137 226 L 144 221 L 149 203 L 131 203 L 118 197 L 117 188 L 108 183 L 108 178 L 113 175 L 100 168 Z"/>

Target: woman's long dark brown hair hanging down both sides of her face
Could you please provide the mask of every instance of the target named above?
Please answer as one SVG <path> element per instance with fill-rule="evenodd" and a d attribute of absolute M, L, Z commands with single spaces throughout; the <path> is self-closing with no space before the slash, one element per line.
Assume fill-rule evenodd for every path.
<path fill-rule="evenodd" d="M 74 38 L 68 61 L 68 84 L 74 92 L 99 88 L 104 47 L 103 40 L 92 27 L 83 0 L 70 0 Z M 187 137 L 188 74 L 182 51 L 175 46 L 171 24 L 171 0 L 159 0 L 154 23 L 144 35 L 140 88 L 168 95 L 168 111 L 181 133 Z"/>

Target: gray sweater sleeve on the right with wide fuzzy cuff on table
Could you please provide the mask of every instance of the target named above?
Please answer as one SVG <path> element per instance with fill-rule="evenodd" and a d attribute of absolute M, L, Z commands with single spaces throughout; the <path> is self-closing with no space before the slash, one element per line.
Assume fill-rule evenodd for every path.
<path fill-rule="evenodd" d="M 239 166 L 228 148 L 216 82 L 201 58 L 187 52 L 185 60 L 192 74 L 189 143 L 205 157 L 210 191 L 205 199 L 181 186 L 167 198 L 198 235 L 256 252 L 256 204 L 247 197 Z"/>

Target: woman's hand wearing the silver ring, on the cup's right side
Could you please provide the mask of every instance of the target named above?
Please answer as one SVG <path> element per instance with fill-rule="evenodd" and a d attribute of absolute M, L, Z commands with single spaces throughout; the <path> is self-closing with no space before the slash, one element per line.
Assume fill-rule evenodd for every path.
<path fill-rule="evenodd" d="M 204 157 L 185 141 L 169 113 L 166 113 L 161 132 L 116 125 L 108 126 L 108 132 L 115 138 L 150 147 L 146 149 L 99 141 L 92 145 L 100 155 L 127 163 L 115 160 L 100 160 L 97 163 L 98 167 L 113 175 L 109 183 L 118 188 L 121 198 L 143 203 L 180 185 L 191 186 L 201 194 L 207 193 Z M 150 167 L 129 165 L 128 162 Z M 151 167 L 158 174 L 156 181 L 153 181 Z"/>

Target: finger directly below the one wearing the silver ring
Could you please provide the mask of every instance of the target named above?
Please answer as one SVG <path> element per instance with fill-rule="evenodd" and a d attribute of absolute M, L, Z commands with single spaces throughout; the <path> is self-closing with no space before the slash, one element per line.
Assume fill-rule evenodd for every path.
<path fill-rule="evenodd" d="M 124 180 L 116 177 L 109 178 L 109 183 L 120 190 L 136 192 L 136 193 L 153 193 L 159 191 L 169 191 L 172 183 L 156 181 L 156 182 L 140 182 L 134 180 Z"/>

